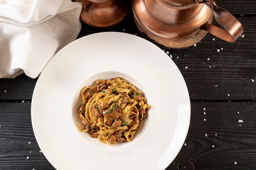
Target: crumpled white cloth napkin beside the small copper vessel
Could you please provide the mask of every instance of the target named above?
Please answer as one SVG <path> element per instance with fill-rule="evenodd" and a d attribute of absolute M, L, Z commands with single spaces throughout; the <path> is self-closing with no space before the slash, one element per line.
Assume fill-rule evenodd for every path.
<path fill-rule="evenodd" d="M 0 78 L 36 78 L 78 36 L 81 9 L 71 0 L 0 0 Z"/>

